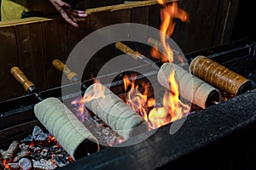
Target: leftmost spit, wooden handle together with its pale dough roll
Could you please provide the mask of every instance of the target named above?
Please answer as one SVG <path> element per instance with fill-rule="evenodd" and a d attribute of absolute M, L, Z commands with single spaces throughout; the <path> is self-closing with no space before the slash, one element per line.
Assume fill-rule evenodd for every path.
<path fill-rule="evenodd" d="M 21 84 L 34 86 L 18 67 L 13 67 L 11 73 Z M 99 150 L 97 139 L 60 99 L 38 99 L 40 102 L 34 106 L 35 116 L 74 160 Z"/>

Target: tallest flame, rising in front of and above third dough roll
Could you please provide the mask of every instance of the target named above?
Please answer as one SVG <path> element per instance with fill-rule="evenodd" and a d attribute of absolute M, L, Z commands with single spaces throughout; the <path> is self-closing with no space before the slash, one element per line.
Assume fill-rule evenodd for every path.
<path fill-rule="evenodd" d="M 158 47 L 154 47 L 151 50 L 151 55 L 156 59 L 161 59 L 163 62 L 173 62 L 173 50 L 169 43 L 166 41 L 167 37 L 171 37 L 176 25 L 176 19 L 182 21 L 189 21 L 189 15 L 181 8 L 177 7 L 177 2 L 172 4 L 166 4 L 164 0 L 157 0 L 163 8 L 160 11 L 160 17 L 162 23 L 160 25 L 160 42 L 164 50 L 164 54 L 161 54 Z M 167 36 L 167 37 L 166 37 Z M 178 58 L 179 59 L 179 58 Z M 181 59 L 179 59 L 183 62 Z M 162 107 L 154 108 L 148 113 L 148 122 L 152 128 L 161 127 L 169 122 L 174 122 L 188 113 L 189 105 L 184 105 L 179 99 L 179 89 L 175 80 L 175 71 L 172 71 L 170 75 L 170 90 L 166 90 L 163 97 Z"/>

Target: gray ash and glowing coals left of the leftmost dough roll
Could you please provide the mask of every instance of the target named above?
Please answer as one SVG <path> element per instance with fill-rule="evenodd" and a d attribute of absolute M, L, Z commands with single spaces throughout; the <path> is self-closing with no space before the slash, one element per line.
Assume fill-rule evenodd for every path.
<path fill-rule="evenodd" d="M 8 150 L 0 150 L 0 169 L 55 169 L 73 162 L 61 144 L 35 126 L 31 135 L 15 140 Z"/>

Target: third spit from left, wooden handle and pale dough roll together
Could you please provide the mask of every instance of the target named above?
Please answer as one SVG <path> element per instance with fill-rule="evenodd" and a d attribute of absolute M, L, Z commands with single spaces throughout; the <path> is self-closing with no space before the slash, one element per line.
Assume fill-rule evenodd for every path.
<path fill-rule="evenodd" d="M 154 42 L 154 45 L 158 45 L 163 48 L 160 42 L 153 41 L 154 39 L 151 40 Z M 133 51 L 122 42 L 116 42 L 115 47 L 125 54 L 129 54 L 133 59 L 143 62 L 146 60 L 145 56 Z M 211 85 L 207 84 L 207 82 L 194 77 L 191 73 L 189 73 L 189 71 L 183 70 L 182 67 L 171 63 L 165 63 L 159 68 L 153 61 L 148 60 L 149 59 L 146 60 L 146 63 L 149 62 L 154 69 L 159 71 L 158 81 L 165 88 L 169 88 L 170 86 L 168 77 L 170 77 L 172 71 L 176 72 L 175 76 L 176 81 L 178 81 L 180 95 L 189 102 L 192 102 L 195 105 L 205 109 L 207 106 L 221 101 L 221 95 L 218 89 L 213 88 Z"/>

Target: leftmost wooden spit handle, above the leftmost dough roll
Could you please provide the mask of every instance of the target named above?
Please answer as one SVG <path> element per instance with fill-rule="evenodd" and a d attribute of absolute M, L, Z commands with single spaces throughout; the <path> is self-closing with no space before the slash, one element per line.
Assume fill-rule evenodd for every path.
<path fill-rule="evenodd" d="M 26 90 L 26 92 L 28 92 L 28 88 L 35 87 L 34 83 L 26 78 L 25 74 L 20 71 L 19 67 L 12 67 L 10 72 L 15 77 L 15 79 L 23 85 L 23 88 Z"/>

